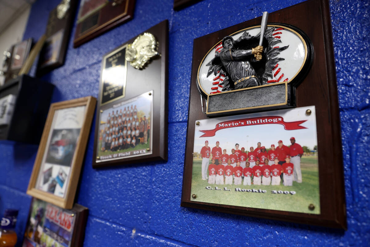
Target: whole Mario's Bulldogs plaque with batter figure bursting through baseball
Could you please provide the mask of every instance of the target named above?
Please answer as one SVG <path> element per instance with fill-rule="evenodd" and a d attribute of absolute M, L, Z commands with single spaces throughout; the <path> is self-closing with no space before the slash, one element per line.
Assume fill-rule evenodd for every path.
<path fill-rule="evenodd" d="M 346 228 L 330 29 L 309 0 L 194 40 L 181 206 Z"/>

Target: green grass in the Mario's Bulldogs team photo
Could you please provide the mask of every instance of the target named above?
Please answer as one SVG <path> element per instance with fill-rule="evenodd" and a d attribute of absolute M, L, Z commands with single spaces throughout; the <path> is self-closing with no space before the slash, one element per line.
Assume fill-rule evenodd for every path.
<path fill-rule="evenodd" d="M 250 185 L 216 185 L 208 184 L 207 180 L 202 180 L 201 172 L 202 161 L 195 158 L 193 161 L 193 174 L 191 184 L 191 194 L 196 194 L 196 199 L 192 201 L 202 201 L 206 203 L 234 205 L 242 207 L 264 208 L 271 210 L 292 211 L 299 213 L 320 214 L 320 194 L 319 194 L 319 171 L 317 156 L 302 157 L 302 183 L 293 181 L 293 186 L 264 186 Z M 212 190 L 206 189 L 211 186 Z M 222 190 L 215 190 L 215 187 Z M 223 190 L 223 187 L 231 191 Z M 261 189 L 266 193 L 239 192 L 235 188 L 241 189 Z M 272 190 L 295 191 L 296 194 L 272 194 Z M 313 211 L 308 209 L 309 204 L 314 204 Z"/>

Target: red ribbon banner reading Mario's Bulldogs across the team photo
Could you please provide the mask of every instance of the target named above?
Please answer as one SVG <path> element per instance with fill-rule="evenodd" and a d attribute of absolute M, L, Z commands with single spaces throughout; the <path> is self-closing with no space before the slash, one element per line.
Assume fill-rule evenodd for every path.
<path fill-rule="evenodd" d="M 250 126 L 250 125 L 258 125 L 258 124 L 281 124 L 284 126 L 286 130 L 300 130 L 302 128 L 306 128 L 306 127 L 300 126 L 300 124 L 304 123 L 305 121 L 307 120 L 285 122 L 283 117 L 279 117 L 279 116 L 251 117 L 249 119 L 235 119 L 231 121 L 224 121 L 224 122 L 216 124 L 216 128 L 214 128 L 213 130 L 199 130 L 199 131 L 204 133 L 201 137 L 211 137 L 211 136 L 215 136 L 216 131 L 222 130 L 224 128 L 233 128 L 233 127 Z"/>

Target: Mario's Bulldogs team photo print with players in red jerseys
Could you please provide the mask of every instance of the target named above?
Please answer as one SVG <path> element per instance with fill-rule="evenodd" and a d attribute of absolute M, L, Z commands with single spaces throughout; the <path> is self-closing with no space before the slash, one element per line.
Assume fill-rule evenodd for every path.
<path fill-rule="evenodd" d="M 309 106 L 198 120 L 191 200 L 320 214 L 315 114 Z"/>

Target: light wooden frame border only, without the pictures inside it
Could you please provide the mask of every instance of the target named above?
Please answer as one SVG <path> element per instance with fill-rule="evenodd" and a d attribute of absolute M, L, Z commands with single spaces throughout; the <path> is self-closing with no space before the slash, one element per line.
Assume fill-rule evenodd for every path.
<path fill-rule="evenodd" d="M 77 190 L 78 180 L 80 178 L 81 167 L 84 159 L 84 153 L 87 146 L 87 140 L 90 133 L 90 127 L 92 123 L 92 117 L 94 116 L 96 99 L 92 96 L 83 97 L 80 99 L 67 100 L 62 102 L 53 103 L 50 106 L 47 120 L 45 123 L 43 135 L 41 137 L 40 146 L 38 147 L 36 160 L 33 166 L 30 182 L 27 188 L 27 194 L 36 197 L 40 200 L 53 203 L 54 205 L 70 209 L 73 207 L 74 197 Z M 55 194 L 40 190 L 36 188 L 36 183 L 38 177 L 42 174 L 40 173 L 41 166 L 43 165 L 44 156 L 46 157 L 46 152 L 50 144 L 48 141 L 51 139 L 50 133 L 54 120 L 54 115 L 57 110 L 64 110 L 73 107 L 86 106 L 85 116 L 81 123 L 81 128 L 75 143 L 75 149 L 70 163 L 70 177 L 65 187 L 65 196 L 60 197 Z M 50 177 L 50 176 L 49 176 Z M 64 183 L 64 181 L 63 181 Z"/>

